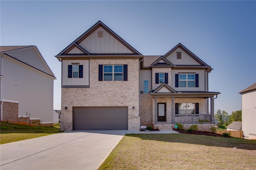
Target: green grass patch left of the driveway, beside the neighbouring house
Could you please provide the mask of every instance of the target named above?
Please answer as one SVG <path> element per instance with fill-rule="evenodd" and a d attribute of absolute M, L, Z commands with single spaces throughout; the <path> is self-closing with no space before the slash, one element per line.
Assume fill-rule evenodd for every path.
<path fill-rule="evenodd" d="M 40 129 L 42 132 L 39 132 Z M 59 129 L 57 127 L 37 127 L 1 122 L 0 144 L 63 132 L 58 131 Z"/>

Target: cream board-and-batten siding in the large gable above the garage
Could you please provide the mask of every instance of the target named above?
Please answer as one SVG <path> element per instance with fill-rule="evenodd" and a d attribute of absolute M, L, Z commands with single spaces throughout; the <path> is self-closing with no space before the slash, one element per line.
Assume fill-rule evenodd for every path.
<path fill-rule="evenodd" d="M 103 31 L 103 37 L 98 37 L 98 31 Z M 79 45 L 89 53 L 133 53 L 102 27 L 91 33 Z"/>

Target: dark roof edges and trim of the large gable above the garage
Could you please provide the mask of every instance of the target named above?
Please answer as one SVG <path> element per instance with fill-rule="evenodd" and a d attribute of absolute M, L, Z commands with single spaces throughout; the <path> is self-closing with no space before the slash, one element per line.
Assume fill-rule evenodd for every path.
<path fill-rule="evenodd" d="M 93 33 L 99 27 L 102 27 L 104 30 L 106 30 L 109 34 L 111 34 L 114 38 L 116 38 L 120 43 L 122 43 L 125 47 L 127 47 L 129 50 L 131 50 L 134 54 L 142 55 L 135 48 L 133 48 L 130 44 L 128 44 L 126 41 L 124 41 L 119 35 L 117 35 L 109 27 L 107 27 L 103 22 L 98 21 L 91 28 L 89 28 L 86 32 L 84 32 L 81 36 L 79 36 L 75 41 L 73 41 L 70 45 L 68 45 L 65 49 L 63 49 L 57 56 L 67 53 L 67 51 L 71 50 L 74 47 L 77 47 L 78 49 L 80 49 L 87 55 L 91 55 L 90 53 L 88 53 L 88 51 L 86 51 L 84 48 L 82 48 L 78 44 L 81 43 L 86 37 L 88 37 L 91 33 Z"/>

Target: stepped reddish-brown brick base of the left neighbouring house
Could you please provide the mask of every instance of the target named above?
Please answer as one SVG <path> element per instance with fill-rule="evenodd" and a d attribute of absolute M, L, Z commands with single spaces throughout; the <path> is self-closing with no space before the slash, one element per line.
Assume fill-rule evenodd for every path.
<path fill-rule="evenodd" d="M 40 119 L 30 120 L 30 117 L 19 117 L 19 103 L 3 101 L 3 121 L 20 125 L 39 126 Z M 41 126 L 54 126 L 54 123 L 42 123 Z"/>

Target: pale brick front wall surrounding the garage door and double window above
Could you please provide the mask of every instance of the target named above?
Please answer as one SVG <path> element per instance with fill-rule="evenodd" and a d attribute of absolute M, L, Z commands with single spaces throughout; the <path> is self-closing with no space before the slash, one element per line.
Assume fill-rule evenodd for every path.
<path fill-rule="evenodd" d="M 99 81 L 99 64 L 128 64 L 128 81 Z M 128 129 L 140 128 L 139 60 L 90 59 L 90 88 L 61 89 L 61 130 L 72 130 L 72 107 L 127 106 Z M 67 111 L 64 110 L 68 107 Z M 134 110 L 132 107 L 134 106 Z"/>

